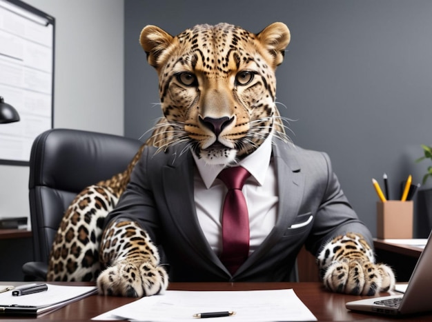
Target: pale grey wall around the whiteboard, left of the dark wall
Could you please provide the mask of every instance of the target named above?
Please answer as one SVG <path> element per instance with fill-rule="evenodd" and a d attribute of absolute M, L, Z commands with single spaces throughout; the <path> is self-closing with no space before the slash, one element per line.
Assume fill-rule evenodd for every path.
<path fill-rule="evenodd" d="M 55 128 L 124 134 L 124 1 L 24 1 L 57 22 Z M 29 216 L 28 170 L 0 165 L 0 217 Z"/>

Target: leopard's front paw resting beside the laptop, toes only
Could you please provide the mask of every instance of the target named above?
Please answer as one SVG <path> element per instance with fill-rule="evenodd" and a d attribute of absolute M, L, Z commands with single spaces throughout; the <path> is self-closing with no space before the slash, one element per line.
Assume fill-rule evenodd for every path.
<path fill-rule="evenodd" d="M 374 295 L 392 290 L 395 275 L 389 266 L 358 259 L 334 261 L 324 273 L 324 285 L 333 292 Z"/>

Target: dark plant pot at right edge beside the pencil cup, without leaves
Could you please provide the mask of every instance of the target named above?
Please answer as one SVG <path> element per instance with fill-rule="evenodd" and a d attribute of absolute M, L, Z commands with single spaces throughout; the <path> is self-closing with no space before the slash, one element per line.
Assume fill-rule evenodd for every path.
<path fill-rule="evenodd" d="M 415 237 L 427 238 L 432 229 L 432 188 L 420 189 L 415 204 Z"/>

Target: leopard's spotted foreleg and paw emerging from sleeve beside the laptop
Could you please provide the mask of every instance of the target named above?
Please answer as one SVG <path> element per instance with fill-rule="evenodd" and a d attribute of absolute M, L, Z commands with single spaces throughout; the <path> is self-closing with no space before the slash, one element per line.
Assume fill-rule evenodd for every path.
<path fill-rule="evenodd" d="M 375 264 L 373 251 L 360 234 L 336 237 L 325 245 L 317 262 L 324 285 L 334 292 L 373 295 L 395 286 L 391 268 Z"/>

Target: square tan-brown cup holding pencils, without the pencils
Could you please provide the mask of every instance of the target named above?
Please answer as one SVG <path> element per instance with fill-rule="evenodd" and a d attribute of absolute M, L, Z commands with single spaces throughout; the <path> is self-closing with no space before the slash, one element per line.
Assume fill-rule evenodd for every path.
<path fill-rule="evenodd" d="M 377 237 L 379 239 L 413 238 L 413 201 L 378 201 Z"/>

